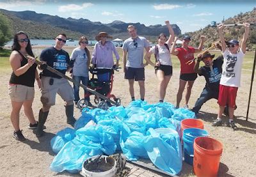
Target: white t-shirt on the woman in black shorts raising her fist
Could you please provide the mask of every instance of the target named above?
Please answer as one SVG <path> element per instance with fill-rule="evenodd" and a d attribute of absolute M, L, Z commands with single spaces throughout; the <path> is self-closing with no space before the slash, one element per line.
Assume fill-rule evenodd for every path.
<path fill-rule="evenodd" d="M 157 55 L 157 59 L 159 59 L 161 65 L 172 66 L 172 59 L 171 59 L 170 52 L 167 49 L 167 47 L 165 45 L 160 46 L 158 44 L 157 44 L 157 47 L 158 47 L 158 50 L 159 50 L 159 53 Z M 149 51 L 156 54 L 156 46 L 152 47 Z"/>

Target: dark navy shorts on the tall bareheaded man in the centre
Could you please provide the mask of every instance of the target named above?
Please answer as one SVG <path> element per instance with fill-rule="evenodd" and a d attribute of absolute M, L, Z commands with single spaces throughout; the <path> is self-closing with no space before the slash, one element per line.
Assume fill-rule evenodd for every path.
<path fill-rule="evenodd" d="M 124 79 L 135 79 L 135 81 L 145 81 L 145 68 L 125 67 Z"/>

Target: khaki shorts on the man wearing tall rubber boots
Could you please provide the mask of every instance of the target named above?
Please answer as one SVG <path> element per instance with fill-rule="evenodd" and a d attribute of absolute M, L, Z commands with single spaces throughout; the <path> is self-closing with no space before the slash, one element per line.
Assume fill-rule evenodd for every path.
<path fill-rule="evenodd" d="M 50 79 L 53 79 L 53 84 L 50 85 Z M 74 91 L 67 79 L 54 78 L 54 77 L 42 77 L 42 96 L 41 102 L 43 105 L 51 106 L 55 105 L 56 93 L 61 96 L 65 101 L 74 100 Z"/>

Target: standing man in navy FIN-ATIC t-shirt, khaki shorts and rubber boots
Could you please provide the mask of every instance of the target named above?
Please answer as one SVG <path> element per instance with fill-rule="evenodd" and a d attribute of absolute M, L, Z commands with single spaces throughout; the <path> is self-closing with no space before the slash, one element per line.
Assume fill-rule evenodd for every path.
<path fill-rule="evenodd" d="M 38 126 L 36 128 L 36 137 L 41 137 L 44 134 L 44 123 L 47 119 L 49 110 L 52 105 L 55 104 L 56 94 L 66 102 L 65 112 L 67 115 L 67 123 L 74 126 L 76 119 L 74 118 L 74 92 L 72 86 L 70 86 L 67 79 L 52 73 L 49 70 L 45 70 L 48 66 L 51 66 L 58 72 L 65 74 L 72 68 L 68 63 L 70 58 L 68 53 L 62 49 L 67 41 L 65 34 L 59 34 L 55 38 L 55 45 L 42 51 L 40 55 L 40 61 L 43 65 L 40 65 L 40 69 L 44 70 L 42 75 L 42 96 L 41 102 L 43 104 L 42 109 L 39 112 Z"/>

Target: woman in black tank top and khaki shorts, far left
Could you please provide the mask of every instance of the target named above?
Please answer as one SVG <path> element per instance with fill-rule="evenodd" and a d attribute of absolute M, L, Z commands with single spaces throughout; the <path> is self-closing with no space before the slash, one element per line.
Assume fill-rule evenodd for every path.
<path fill-rule="evenodd" d="M 9 95 L 12 100 L 11 120 L 15 130 L 13 137 L 19 141 L 25 140 L 21 132 L 22 130 L 19 127 L 20 109 L 23 105 L 24 113 L 30 122 L 28 128 L 36 128 L 37 121 L 35 121 L 32 110 L 32 103 L 35 96 L 35 79 L 39 89 L 42 86 L 36 70 L 35 60 L 27 60 L 24 58 L 26 54 L 34 57 L 28 35 L 23 31 L 19 31 L 13 38 L 12 53 L 10 55 L 10 64 L 13 72 L 9 82 Z"/>

